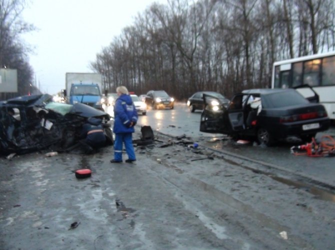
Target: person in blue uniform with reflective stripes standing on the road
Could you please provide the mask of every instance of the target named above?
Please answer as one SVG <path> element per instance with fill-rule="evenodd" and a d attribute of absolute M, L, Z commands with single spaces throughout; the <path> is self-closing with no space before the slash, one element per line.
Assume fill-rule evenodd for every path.
<path fill-rule="evenodd" d="M 118 97 L 114 104 L 114 158 L 110 162 L 122 162 L 122 145 L 124 143 L 128 155 L 125 162 L 131 163 L 136 160 L 132 145 L 132 133 L 135 131 L 134 125 L 137 123 L 137 111 L 125 86 L 118 86 L 116 93 Z"/>

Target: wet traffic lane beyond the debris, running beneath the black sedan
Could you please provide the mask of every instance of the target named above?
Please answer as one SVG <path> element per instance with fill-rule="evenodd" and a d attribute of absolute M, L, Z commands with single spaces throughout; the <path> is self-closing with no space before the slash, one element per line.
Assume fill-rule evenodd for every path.
<path fill-rule="evenodd" d="M 231 152 L 257 161 L 274 164 L 322 183 L 335 183 L 335 157 L 295 156 L 290 153 L 290 147 L 300 142 L 280 142 L 271 147 L 264 147 L 257 143 L 239 144 L 224 134 L 211 134 L 199 131 L 201 111 L 191 113 L 184 103 L 176 103 L 174 109 L 153 110 L 148 108 L 147 115 L 138 116 L 138 124 L 150 125 L 153 130 L 164 134 L 178 136 L 185 134 L 192 137 L 199 144 L 215 150 Z M 335 137 L 335 127 L 317 133 L 317 138 L 324 134 Z M 294 140 L 293 140 L 294 141 Z"/>

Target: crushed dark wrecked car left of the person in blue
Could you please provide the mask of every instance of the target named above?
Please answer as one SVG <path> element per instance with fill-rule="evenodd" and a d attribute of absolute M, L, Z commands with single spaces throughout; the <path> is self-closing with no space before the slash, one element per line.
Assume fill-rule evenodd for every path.
<path fill-rule="evenodd" d="M 0 103 L 0 154 L 50 148 L 64 151 L 79 140 L 90 117 L 102 120 L 106 144 L 112 144 L 109 114 L 83 103 L 52 101 L 49 94 L 25 95 Z"/>

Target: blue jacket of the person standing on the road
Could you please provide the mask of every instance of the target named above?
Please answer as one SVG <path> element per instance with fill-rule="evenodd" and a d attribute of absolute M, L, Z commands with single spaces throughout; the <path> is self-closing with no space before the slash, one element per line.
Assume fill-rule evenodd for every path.
<path fill-rule="evenodd" d="M 137 123 L 137 111 L 130 95 L 121 94 L 114 105 L 114 133 L 133 133 Z M 133 125 L 130 126 L 131 121 Z"/>

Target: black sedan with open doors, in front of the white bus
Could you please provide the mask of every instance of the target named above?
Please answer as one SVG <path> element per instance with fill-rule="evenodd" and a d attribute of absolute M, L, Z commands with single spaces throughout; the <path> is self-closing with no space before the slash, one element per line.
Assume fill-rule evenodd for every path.
<path fill-rule="evenodd" d="M 257 139 L 260 144 L 271 145 L 288 136 L 309 142 L 330 124 L 324 106 L 309 102 L 295 89 L 244 90 L 227 108 L 211 105 L 213 96 L 203 98 L 200 131 Z"/>

